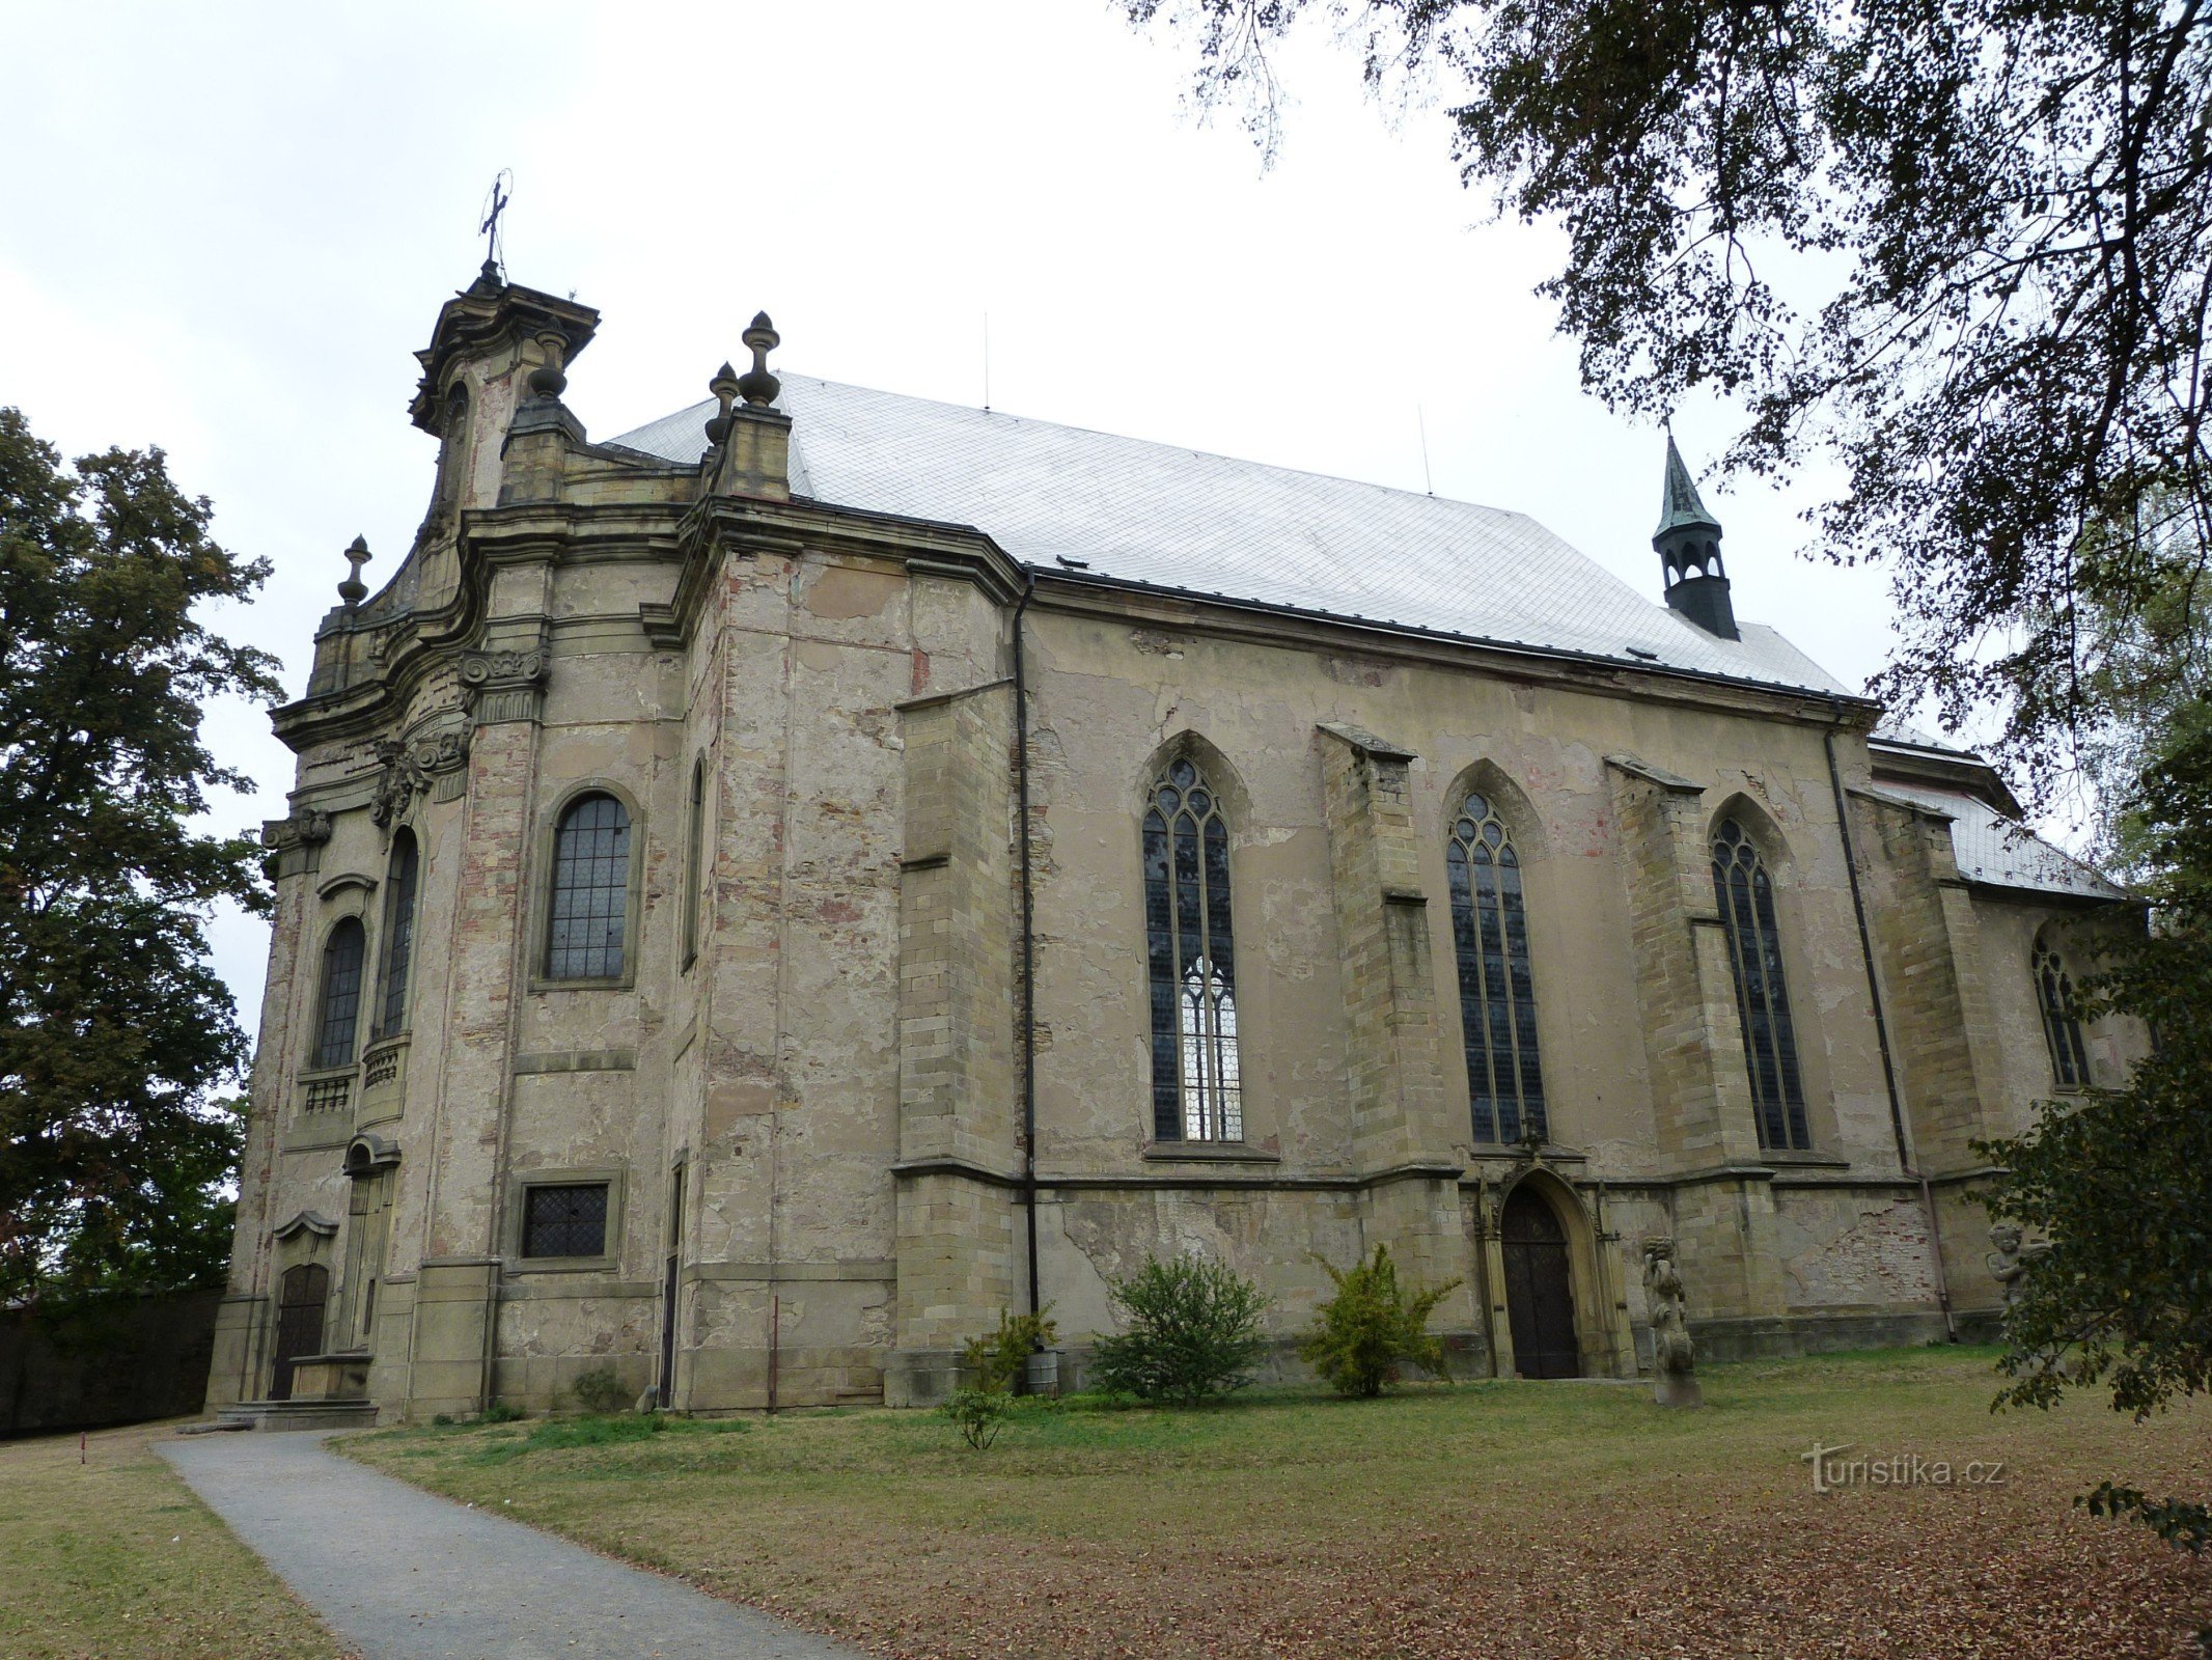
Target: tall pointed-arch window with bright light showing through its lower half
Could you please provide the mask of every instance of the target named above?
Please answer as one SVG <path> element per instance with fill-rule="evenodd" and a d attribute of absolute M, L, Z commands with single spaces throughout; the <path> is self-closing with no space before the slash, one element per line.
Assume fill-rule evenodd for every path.
<path fill-rule="evenodd" d="M 1144 812 L 1144 919 L 1152 985 L 1152 1138 L 1241 1142 L 1230 832 L 1190 761 L 1152 779 Z"/>

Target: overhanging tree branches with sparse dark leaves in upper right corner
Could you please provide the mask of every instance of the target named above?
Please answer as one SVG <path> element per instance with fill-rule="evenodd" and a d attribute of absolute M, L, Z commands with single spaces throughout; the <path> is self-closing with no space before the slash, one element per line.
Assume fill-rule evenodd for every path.
<path fill-rule="evenodd" d="M 1564 226 L 1542 292 L 1593 392 L 1741 401 L 1754 474 L 1845 463 L 1820 544 L 1893 571 L 1882 693 L 1993 706 L 2051 777 L 2095 715 L 2084 593 L 2128 609 L 2185 547 L 2203 604 L 2205 0 L 1121 2 L 1270 144 L 1270 49 L 1310 13 L 1371 84 L 1438 89 L 1467 181 Z"/>

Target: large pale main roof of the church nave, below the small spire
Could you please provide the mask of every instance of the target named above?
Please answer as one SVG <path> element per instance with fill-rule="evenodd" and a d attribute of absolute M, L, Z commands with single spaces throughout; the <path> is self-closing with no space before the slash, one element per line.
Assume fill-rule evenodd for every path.
<path fill-rule="evenodd" d="M 776 407 L 794 494 L 969 525 L 1042 571 L 1851 695 L 1774 629 L 1708 635 L 1526 513 L 796 374 Z M 613 443 L 697 463 L 712 412 Z"/>

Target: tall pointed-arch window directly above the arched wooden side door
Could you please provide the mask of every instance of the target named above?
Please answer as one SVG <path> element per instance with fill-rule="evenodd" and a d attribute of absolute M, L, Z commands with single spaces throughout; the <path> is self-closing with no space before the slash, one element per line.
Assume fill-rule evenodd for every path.
<path fill-rule="evenodd" d="M 1451 943 L 1460 967 L 1460 1036 L 1478 1142 L 1544 1138 L 1544 1067 L 1535 1047 L 1535 978 L 1520 854 L 1489 799 L 1469 792 L 1444 848 Z"/>

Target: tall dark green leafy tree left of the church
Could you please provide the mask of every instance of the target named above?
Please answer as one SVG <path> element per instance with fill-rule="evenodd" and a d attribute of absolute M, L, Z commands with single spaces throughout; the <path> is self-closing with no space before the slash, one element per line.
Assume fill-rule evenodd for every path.
<path fill-rule="evenodd" d="M 0 409 L 0 1304 L 221 1279 L 246 1038 L 208 963 L 259 850 L 199 735 L 274 662 L 195 615 L 268 573 L 159 449 L 64 467 Z"/>

